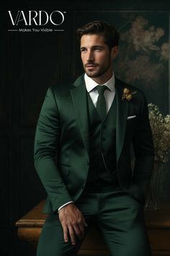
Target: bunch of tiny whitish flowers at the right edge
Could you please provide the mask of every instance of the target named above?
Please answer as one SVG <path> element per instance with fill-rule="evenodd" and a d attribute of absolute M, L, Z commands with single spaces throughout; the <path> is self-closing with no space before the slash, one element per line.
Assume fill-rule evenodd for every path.
<path fill-rule="evenodd" d="M 170 152 L 170 115 L 163 116 L 158 106 L 148 104 L 149 119 L 155 148 L 155 161 L 166 163 Z"/>

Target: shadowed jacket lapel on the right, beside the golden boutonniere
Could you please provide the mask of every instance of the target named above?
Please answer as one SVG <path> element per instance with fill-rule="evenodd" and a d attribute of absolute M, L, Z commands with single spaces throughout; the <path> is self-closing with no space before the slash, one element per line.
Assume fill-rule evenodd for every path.
<path fill-rule="evenodd" d="M 125 139 L 125 130 L 128 117 L 129 102 L 122 101 L 123 89 L 120 80 L 115 78 L 115 91 L 117 94 L 117 122 L 116 122 L 116 148 L 117 148 L 117 162 L 119 161 L 120 154 Z"/>

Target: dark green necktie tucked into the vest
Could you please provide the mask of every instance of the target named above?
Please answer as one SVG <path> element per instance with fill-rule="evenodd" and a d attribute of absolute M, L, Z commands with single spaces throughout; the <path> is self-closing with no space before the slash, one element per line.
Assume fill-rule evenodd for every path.
<path fill-rule="evenodd" d="M 104 91 L 107 90 L 106 85 L 97 85 L 96 87 L 99 96 L 97 98 L 97 111 L 99 113 L 99 116 L 101 120 L 103 121 L 107 112 L 106 112 L 106 100 L 104 98 Z"/>

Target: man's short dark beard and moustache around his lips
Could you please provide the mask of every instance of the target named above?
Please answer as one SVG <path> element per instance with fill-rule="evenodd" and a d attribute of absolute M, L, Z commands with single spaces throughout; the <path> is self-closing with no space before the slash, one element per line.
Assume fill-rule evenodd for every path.
<path fill-rule="evenodd" d="M 86 66 L 89 64 L 94 65 L 95 70 L 86 69 Z M 110 67 L 111 67 L 111 60 L 108 61 L 106 64 L 102 64 L 102 65 L 99 65 L 97 63 L 87 63 L 84 65 L 84 72 L 88 77 L 101 77 L 102 74 L 106 73 Z"/>

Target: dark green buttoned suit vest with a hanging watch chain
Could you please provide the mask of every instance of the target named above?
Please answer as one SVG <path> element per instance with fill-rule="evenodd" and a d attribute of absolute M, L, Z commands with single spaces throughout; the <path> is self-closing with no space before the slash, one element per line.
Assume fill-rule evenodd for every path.
<path fill-rule="evenodd" d="M 116 95 L 104 121 L 101 121 L 89 93 L 89 174 L 85 190 L 117 186 L 116 161 Z"/>

